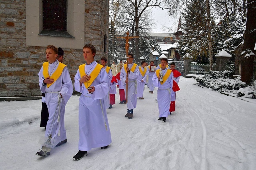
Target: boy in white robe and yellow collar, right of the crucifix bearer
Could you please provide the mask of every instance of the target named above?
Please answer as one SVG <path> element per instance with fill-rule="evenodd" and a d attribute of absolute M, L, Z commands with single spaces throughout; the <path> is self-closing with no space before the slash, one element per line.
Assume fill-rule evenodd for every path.
<path fill-rule="evenodd" d="M 161 69 L 162 77 L 160 76 L 160 69 L 156 70 L 152 81 L 155 87 L 158 87 L 157 90 L 157 103 L 159 110 L 159 119 L 160 121 L 166 122 L 166 118 L 169 115 L 169 108 L 171 103 L 171 90 L 173 85 L 173 74 L 172 71 L 166 68 L 168 60 L 166 58 L 161 59 Z M 163 79 L 160 82 L 160 78 Z"/>

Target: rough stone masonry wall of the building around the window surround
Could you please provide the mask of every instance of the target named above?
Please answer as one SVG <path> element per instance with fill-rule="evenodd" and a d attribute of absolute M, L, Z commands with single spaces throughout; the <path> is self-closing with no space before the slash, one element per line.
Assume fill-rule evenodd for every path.
<path fill-rule="evenodd" d="M 96 61 L 108 57 L 104 52 L 108 24 L 109 1 L 85 0 L 85 44 L 96 47 Z M 108 49 L 108 41 L 105 45 Z M 62 49 L 74 82 L 79 65 L 85 63 L 82 47 Z M 41 95 L 38 73 L 47 61 L 45 50 L 26 45 L 26 0 L 0 0 L 0 97 Z"/>

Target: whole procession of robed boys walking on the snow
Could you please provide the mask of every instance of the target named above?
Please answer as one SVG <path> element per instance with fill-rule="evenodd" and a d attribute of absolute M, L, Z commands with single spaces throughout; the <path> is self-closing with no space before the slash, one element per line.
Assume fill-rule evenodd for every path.
<path fill-rule="evenodd" d="M 44 96 L 42 98 L 41 127 L 45 127 L 45 141 L 36 154 L 48 156 L 55 146 L 67 142 L 64 125 L 65 106 L 73 93 L 73 84 L 67 65 L 62 64 L 64 51 L 53 45 L 46 47 L 46 59 L 39 72 L 39 85 Z M 92 148 L 107 149 L 111 141 L 110 128 L 106 109 L 115 104 L 116 86 L 119 89 L 120 103 L 126 104 L 128 119 L 133 118 L 133 109 L 137 106 L 137 98 L 143 98 L 145 84 L 154 94 L 157 87 L 157 101 L 160 121 L 175 111 L 175 96 L 179 90 L 180 73 L 175 63 L 161 59 L 156 67 L 154 61 L 147 66 L 145 61 L 139 67 L 133 62 L 133 55 L 128 53 L 127 63 L 112 67 L 106 65 L 107 58 L 102 57 L 101 64 L 94 60 L 96 49 L 91 44 L 83 47 L 85 64 L 77 69 L 74 78 L 75 91 L 80 92 L 79 98 L 79 151 L 73 160 L 80 160 Z M 160 69 L 157 69 L 160 68 Z M 116 75 L 113 75 L 116 74 Z"/>

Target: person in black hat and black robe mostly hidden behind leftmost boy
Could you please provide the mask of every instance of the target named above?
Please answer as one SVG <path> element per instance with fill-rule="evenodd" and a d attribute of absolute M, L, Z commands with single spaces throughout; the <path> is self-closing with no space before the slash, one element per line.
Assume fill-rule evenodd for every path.
<path fill-rule="evenodd" d="M 58 56 L 56 57 L 56 59 L 59 61 L 59 62 L 63 62 L 63 59 L 64 59 L 64 51 L 62 50 L 62 48 L 58 48 Z M 46 125 L 47 125 L 47 122 L 48 122 L 48 118 L 49 118 L 49 111 L 48 111 L 48 108 L 47 108 L 47 105 L 45 103 L 45 94 L 42 93 L 42 109 L 41 109 L 41 121 L 40 121 L 40 127 L 44 127 L 46 129 Z"/>

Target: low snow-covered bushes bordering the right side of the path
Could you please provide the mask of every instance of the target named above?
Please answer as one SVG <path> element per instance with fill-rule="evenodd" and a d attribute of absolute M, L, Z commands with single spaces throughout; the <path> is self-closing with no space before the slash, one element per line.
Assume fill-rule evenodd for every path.
<path fill-rule="evenodd" d="M 240 77 L 231 79 L 232 72 L 215 71 L 203 77 L 197 77 L 196 81 L 207 88 L 219 92 L 230 92 L 237 94 L 238 97 L 256 98 L 256 87 L 247 87 Z"/>

